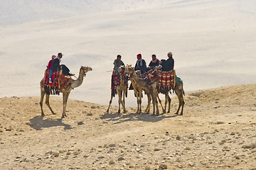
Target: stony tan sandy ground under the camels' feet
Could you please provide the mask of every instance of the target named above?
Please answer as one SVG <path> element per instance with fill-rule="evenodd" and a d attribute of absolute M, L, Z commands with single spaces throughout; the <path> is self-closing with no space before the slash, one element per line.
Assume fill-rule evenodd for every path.
<path fill-rule="evenodd" d="M 183 116 L 39 100 L 0 98 L 0 169 L 256 169 L 256 84 L 186 94 Z"/>

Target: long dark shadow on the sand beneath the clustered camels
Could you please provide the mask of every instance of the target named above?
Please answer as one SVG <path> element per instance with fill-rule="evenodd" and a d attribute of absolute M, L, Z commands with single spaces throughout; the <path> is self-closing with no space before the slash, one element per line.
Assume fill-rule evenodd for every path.
<path fill-rule="evenodd" d="M 144 122 L 159 122 L 165 118 L 174 118 L 178 115 L 150 115 L 146 113 L 129 113 L 128 115 L 122 115 L 119 113 L 105 113 L 102 115 L 101 119 L 105 119 L 106 121 L 114 121 L 113 124 L 124 123 L 128 121 L 144 121 Z"/>

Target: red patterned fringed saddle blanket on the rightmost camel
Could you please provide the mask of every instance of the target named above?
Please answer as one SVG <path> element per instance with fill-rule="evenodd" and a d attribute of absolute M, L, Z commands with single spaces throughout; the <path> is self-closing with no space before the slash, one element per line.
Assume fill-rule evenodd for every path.
<path fill-rule="evenodd" d="M 175 87 L 175 70 L 171 70 L 168 72 L 163 72 L 159 70 L 159 90 L 161 91 L 170 91 Z"/>

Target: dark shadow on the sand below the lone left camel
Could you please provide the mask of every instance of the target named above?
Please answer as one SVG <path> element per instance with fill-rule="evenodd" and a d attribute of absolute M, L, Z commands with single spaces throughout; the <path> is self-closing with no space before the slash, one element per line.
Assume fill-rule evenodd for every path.
<path fill-rule="evenodd" d="M 30 126 L 31 128 L 35 130 L 42 130 L 42 128 L 51 128 L 51 127 L 57 127 L 57 126 L 63 126 L 64 130 L 70 130 L 73 129 L 71 125 L 67 125 L 62 122 L 62 119 L 43 119 L 43 116 L 38 115 L 34 118 L 31 118 L 30 120 Z"/>

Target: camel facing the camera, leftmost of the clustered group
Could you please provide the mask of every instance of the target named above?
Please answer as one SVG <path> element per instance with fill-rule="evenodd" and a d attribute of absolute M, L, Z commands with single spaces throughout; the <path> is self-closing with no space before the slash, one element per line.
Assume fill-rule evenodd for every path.
<path fill-rule="evenodd" d="M 127 89 L 128 84 L 125 84 L 125 77 L 124 77 L 124 69 L 125 67 L 122 65 L 118 68 L 118 72 L 121 73 L 120 77 L 120 84 L 117 85 L 117 95 L 118 95 L 118 113 L 120 113 L 120 104 L 122 103 L 122 107 L 124 109 L 124 113 L 126 113 L 125 110 L 125 96 L 127 96 Z M 111 98 L 110 98 L 110 105 L 112 103 L 112 98 L 114 97 L 114 91 L 111 90 Z M 123 99 L 122 99 L 123 98 Z M 107 108 L 107 113 L 109 113 L 110 105 Z"/>

